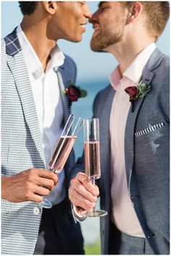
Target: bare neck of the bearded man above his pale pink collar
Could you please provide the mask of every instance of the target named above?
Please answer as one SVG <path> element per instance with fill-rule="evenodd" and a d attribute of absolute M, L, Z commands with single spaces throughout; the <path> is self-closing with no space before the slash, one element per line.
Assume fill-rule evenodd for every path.
<path fill-rule="evenodd" d="M 125 27 L 121 41 L 104 49 L 117 59 L 120 72 L 124 73 L 135 57 L 155 39 L 149 36 L 143 23 L 130 23 Z"/>

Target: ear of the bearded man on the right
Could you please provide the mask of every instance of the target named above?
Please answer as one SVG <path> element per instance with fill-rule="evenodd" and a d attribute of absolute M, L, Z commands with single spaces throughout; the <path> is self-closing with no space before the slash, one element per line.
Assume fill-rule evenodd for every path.
<path fill-rule="evenodd" d="M 128 23 L 133 23 L 135 20 L 137 20 L 138 17 L 140 17 L 141 13 L 143 11 L 143 6 L 141 2 L 136 1 L 133 5 L 131 5 L 128 8 Z"/>

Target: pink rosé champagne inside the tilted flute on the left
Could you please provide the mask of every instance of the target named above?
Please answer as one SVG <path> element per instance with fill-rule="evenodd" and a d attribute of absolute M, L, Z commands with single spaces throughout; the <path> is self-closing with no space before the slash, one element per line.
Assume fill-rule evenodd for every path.
<path fill-rule="evenodd" d="M 49 161 L 49 169 L 60 173 L 77 139 L 76 136 L 61 136 Z"/>

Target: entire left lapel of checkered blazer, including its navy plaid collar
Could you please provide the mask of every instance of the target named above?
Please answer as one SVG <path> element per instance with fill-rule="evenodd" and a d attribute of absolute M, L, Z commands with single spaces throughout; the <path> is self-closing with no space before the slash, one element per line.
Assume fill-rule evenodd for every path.
<path fill-rule="evenodd" d="M 38 117 L 36 115 L 36 105 L 28 77 L 28 70 L 22 55 L 22 48 L 20 46 L 20 41 L 17 38 L 17 28 L 14 28 L 14 31 L 6 36 L 4 41 L 6 42 L 7 55 L 9 55 L 7 58 L 7 64 L 9 65 L 9 68 L 14 76 L 25 121 L 30 129 L 30 134 L 33 137 L 33 141 L 38 152 L 40 153 L 41 159 L 45 164 L 46 161 L 41 140 L 41 132 L 39 129 Z"/>

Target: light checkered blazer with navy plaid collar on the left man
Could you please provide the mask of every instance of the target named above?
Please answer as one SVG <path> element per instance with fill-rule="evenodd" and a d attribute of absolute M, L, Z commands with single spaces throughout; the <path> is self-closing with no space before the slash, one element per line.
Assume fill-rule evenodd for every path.
<path fill-rule="evenodd" d="M 16 29 L 1 44 L 1 174 L 15 175 L 32 167 L 45 168 L 41 133 L 28 71 L 17 39 Z M 76 67 L 70 57 L 58 69 L 61 92 L 69 81 L 75 82 Z M 64 123 L 70 115 L 67 97 L 62 95 Z M 74 153 L 65 165 L 66 189 Z M 74 175 L 72 173 L 72 175 Z M 36 204 L 31 201 L 1 203 L 1 253 L 33 254 L 37 241 L 40 214 L 34 215 Z"/>

